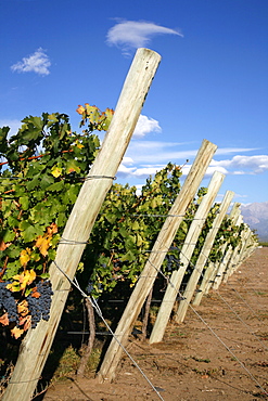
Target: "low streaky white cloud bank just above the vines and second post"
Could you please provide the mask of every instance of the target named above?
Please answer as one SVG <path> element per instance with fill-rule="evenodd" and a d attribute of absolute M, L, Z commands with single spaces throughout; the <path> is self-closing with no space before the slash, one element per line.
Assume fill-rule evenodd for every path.
<path fill-rule="evenodd" d="M 118 170 L 119 177 L 128 179 L 144 179 L 148 176 L 155 174 L 166 166 L 168 161 L 182 165 L 182 176 L 187 176 L 191 164 L 197 153 L 197 148 L 176 150 L 189 143 L 161 142 L 161 141 L 133 141 L 130 143 L 126 159 L 124 158 Z M 173 151 L 170 152 L 170 147 Z M 219 148 L 216 156 L 228 155 L 232 153 L 253 152 L 255 148 L 248 147 L 225 147 Z M 190 163 L 186 163 L 190 159 Z M 213 159 L 207 168 L 205 177 L 212 177 L 215 171 L 220 171 L 228 176 L 239 174 L 260 174 L 268 170 L 268 155 L 235 155 L 228 159 Z"/>

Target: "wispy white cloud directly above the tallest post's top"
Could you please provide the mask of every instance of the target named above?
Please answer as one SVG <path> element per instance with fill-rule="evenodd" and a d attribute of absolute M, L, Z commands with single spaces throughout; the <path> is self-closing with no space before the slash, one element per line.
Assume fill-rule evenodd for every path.
<path fill-rule="evenodd" d="M 155 35 L 183 36 L 178 29 L 170 29 L 146 21 L 119 20 L 106 36 L 107 44 L 117 46 L 125 55 L 129 55 L 131 49 L 146 47 Z"/>

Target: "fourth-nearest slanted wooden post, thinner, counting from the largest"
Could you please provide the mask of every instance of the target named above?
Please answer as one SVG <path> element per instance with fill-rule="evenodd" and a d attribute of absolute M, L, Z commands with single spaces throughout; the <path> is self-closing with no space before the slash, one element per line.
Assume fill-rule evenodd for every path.
<path fill-rule="evenodd" d="M 233 195 L 234 195 L 233 192 L 227 191 L 227 193 L 225 195 L 225 198 L 224 198 L 224 200 L 222 200 L 222 203 L 219 207 L 218 215 L 214 219 L 212 229 L 209 230 L 209 232 L 206 236 L 206 240 L 205 240 L 205 243 L 204 243 L 204 245 L 202 247 L 202 250 L 200 253 L 199 259 L 197 259 L 197 261 L 194 266 L 194 270 L 191 274 L 191 277 L 190 277 L 190 280 L 187 284 L 186 290 L 183 293 L 183 297 L 186 299 L 181 300 L 180 303 L 179 303 L 179 308 L 178 308 L 178 311 L 177 311 L 176 316 L 175 316 L 175 320 L 176 320 L 177 323 L 183 322 L 183 320 L 184 320 L 189 303 L 192 299 L 195 287 L 196 287 L 196 285 L 199 283 L 199 280 L 201 277 L 203 268 L 204 268 L 204 266 L 207 261 L 207 258 L 209 256 L 209 253 L 212 250 L 215 237 L 216 237 L 217 232 L 219 230 L 219 227 L 220 227 L 220 224 L 224 220 L 224 217 L 225 217 L 225 215 L 226 215 L 226 212 L 227 212 L 227 210 L 230 206 L 230 203 L 232 200 Z"/>

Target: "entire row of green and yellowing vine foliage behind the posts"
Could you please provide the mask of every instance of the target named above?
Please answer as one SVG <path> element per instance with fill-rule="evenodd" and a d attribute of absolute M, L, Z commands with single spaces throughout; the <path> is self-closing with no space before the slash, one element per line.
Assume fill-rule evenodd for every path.
<path fill-rule="evenodd" d="M 26 117 L 17 134 L 0 129 L 0 323 L 18 338 L 41 319 L 49 320 L 53 288 L 49 266 L 80 186 L 100 148 L 95 131 L 106 131 L 113 111 L 85 104 L 77 108 L 82 132 L 72 131 L 68 116 Z M 79 283 L 91 296 L 127 292 L 136 284 L 164 220 L 180 191 L 181 167 L 169 163 L 136 186 L 115 183 L 107 193 L 79 264 Z M 202 187 L 163 263 L 170 275 L 179 269 L 180 249 L 194 219 Z M 219 205 L 215 205 L 200 235 L 194 266 Z M 237 230 L 237 231 L 235 231 Z M 219 260 L 220 245 L 234 247 L 239 230 L 226 219 L 209 258 Z M 233 235 L 233 232 L 237 232 Z"/>

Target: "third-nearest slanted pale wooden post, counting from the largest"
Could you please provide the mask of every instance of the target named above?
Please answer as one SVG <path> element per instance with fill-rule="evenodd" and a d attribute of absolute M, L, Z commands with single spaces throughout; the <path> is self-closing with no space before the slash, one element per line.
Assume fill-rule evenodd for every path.
<path fill-rule="evenodd" d="M 165 329 L 169 320 L 169 316 L 173 311 L 178 290 L 180 288 L 181 281 L 189 266 L 190 259 L 194 251 L 196 242 L 202 232 L 204 222 L 207 218 L 207 215 L 212 208 L 212 205 L 215 200 L 215 197 L 220 189 L 220 185 L 225 179 L 225 176 L 221 172 L 215 171 L 207 190 L 207 194 L 203 197 L 194 219 L 189 228 L 187 237 L 182 249 L 180 251 L 180 268 L 177 271 L 174 271 L 170 277 L 170 282 L 165 292 L 161 308 L 157 313 L 156 321 L 153 326 L 152 334 L 150 336 L 150 344 L 162 341 Z"/>

